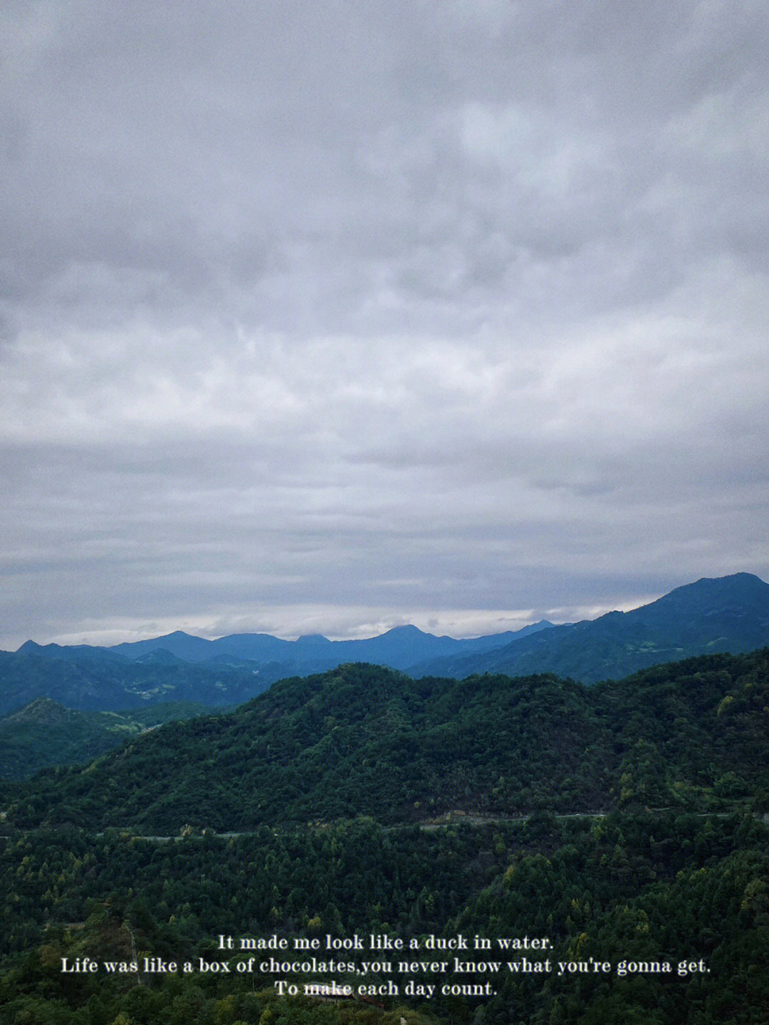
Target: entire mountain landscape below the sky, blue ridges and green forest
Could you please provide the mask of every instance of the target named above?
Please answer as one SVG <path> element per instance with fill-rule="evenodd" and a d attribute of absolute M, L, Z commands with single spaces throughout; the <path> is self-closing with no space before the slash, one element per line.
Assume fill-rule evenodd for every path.
<path fill-rule="evenodd" d="M 38 697 L 0 719 L 0 1021 L 764 1021 L 769 648 L 718 652 L 767 645 L 768 610 L 767 584 L 737 574 L 474 649 L 407 627 L 359 643 L 175 633 L 0 653 L 6 702 L 49 690 L 134 703 L 117 713 Z M 334 665 L 296 670 L 312 658 Z M 360 661 L 395 658 L 411 674 Z M 639 660 L 665 661 L 600 679 Z M 269 686 L 287 665 L 293 675 Z M 162 704 L 181 695 L 209 708 Z M 100 753 L 108 734 L 125 742 Z M 56 765 L 18 779 L 41 754 Z M 75 758 L 91 761 L 62 764 Z M 462 936 L 500 951 L 504 938 L 548 937 L 553 966 L 613 968 L 503 968 L 482 1000 L 415 1008 L 398 993 L 337 1008 L 274 996 L 271 976 L 241 975 L 215 940 L 301 937 L 309 949 L 370 933 L 434 937 L 438 950 Z M 131 968 L 137 952 L 155 963 L 182 951 L 205 978 Z M 62 971 L 84 956 L 123 968 Z M 669 974 L 625 975 L 663 957 Z M 430 977 L 446 993 L 476 978 Z"/>

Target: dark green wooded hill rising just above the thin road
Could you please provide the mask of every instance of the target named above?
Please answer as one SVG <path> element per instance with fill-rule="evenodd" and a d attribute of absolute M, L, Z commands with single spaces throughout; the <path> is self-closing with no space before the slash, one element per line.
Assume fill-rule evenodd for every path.
<path fill-rule="evenodd" d="M 450 810 L 758 807 L 767 706 L 768 650 L 593 688 L 343 665 L 283 681 L 231 714 L 160 727 L 85 769 L 6 786 L 8 822 L 176 832 Z"/>

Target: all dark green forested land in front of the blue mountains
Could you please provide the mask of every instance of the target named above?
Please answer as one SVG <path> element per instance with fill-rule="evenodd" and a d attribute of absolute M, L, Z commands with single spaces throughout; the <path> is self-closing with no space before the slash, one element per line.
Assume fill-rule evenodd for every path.
<path fill-rule="evenodd" d="M 346 665 L 6 782 L 0 1021 L 763 1025 L 768 731 L 766 650 L 592 688 Z M 279 995 L 220 939 L 358 934 L 426 967 Z"/>

